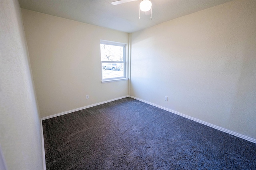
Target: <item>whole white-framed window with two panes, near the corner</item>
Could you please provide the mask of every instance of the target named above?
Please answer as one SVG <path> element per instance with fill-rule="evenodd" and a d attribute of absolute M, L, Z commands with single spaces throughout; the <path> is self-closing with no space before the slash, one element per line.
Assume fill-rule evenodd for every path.
<path fill-rule="evenodd" d="M 102 82 L 127 80 L 126 44 L 100 41 Z"/>

